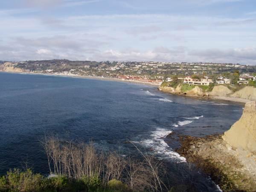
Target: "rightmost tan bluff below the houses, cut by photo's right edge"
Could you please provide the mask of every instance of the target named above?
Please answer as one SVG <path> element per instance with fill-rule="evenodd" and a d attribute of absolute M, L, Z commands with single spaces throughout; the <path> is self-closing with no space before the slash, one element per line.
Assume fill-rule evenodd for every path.
<path fill-rule="evenodd" d="M 230 97 L 241 98 L 241 99 L 249 99 L 256 101 L 256 88 L 251 86 L 246 86 L 239 91 L 236 91 Z"/>

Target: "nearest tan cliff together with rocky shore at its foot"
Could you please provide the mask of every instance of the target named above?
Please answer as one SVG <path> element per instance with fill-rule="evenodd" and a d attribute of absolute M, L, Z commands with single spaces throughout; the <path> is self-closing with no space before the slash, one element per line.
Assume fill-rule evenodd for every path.
<path fill-rule="evenodd" d="M 256 191 L 256 102 L 223 135 L 179 135 L 176 151 L 209 174 L 223 191 Z"/>

